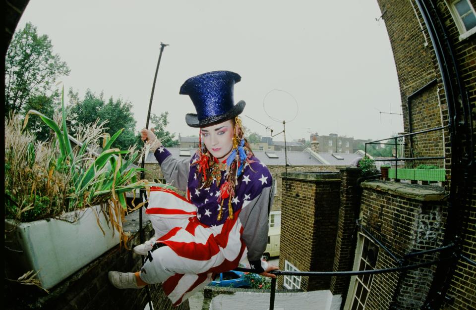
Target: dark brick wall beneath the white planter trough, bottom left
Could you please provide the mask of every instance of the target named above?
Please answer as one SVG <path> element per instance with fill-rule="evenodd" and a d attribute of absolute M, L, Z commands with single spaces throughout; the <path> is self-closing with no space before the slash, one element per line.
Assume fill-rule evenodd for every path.
<path fill-rule="evenodd" d="M 126 216 L 127 221 L 124 223 L 124 231 L 131 233 L 131 238 L 127 242 L 129 249 L 139 244 L 137 212 Z M 147 239 L 152 234 L 151 230 L 150 222 L 144 222 Z M 4 305 L 6 309 L 18 310 L 144 309 L 148 303 L 146 289 L 119 290 L 108 280 L 109 270 L 135 272 L 140 269 L 140 266 L 142 266 L 140 256 L 124 247 L 119 248 L 118 245 L 51 289 L 50 294 L 46 294 L 32 285 L 8 282 L 4 288 Z M 174 308 L 164 295 L 161 285 L 149 285 L 149 289 L 154 309 L 189 309 L 188 302 L 184 302 L 179 308 Z"/>

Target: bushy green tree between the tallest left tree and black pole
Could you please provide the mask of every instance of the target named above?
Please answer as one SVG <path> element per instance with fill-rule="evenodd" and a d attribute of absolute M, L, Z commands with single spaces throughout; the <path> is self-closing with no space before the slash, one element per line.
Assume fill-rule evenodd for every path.
<path fill-rule="evenodd" d="M 84 99 L 80 101 L 77 93 L 69 90 L 70 102 L 73 103 L 69 112 L 72 130 L 77 130 L 79 124 L 89 124 L 99 119 L 99 122 L 106 123 L 106 133 L 114 135 L 119 129 L 124 128 L 119 138 L 114 142 L 113 148 L 126 150 L 136 142 L 134 114 L 132 113 L 132 103 L 124 102 L 122 99 L 114 100 L 109 98 L 106 103 L 103 93 L 96 96 L 91 90 L 86 91 Z M 76 102 L 76 103 L 74 103 Z"/>

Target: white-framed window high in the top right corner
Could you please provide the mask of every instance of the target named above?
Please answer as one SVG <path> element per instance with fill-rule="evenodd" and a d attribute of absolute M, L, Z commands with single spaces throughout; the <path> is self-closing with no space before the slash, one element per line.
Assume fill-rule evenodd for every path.
<path fill-rule="evenodd" d="M 448 0 L 448 7 L 455 20 L 460 40 L 476 32 L 476 12 L 469 0 Z"/>

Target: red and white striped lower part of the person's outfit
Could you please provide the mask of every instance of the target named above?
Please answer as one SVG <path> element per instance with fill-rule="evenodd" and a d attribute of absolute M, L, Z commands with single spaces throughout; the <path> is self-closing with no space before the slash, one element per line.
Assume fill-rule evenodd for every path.
<path fill-rule="evenodd" d="M 152 252 L 140 277 L 147 283 L 163 283 L 175 306 L 212 281 L 213 274 L 232 270 L 246 257 L 241 240 L 239 211 L 234 219 L 209 227 L 196 217 L 197 208 L 175 192 L 151 188 L 149 215 L 157 242 L 167 245 Z"/>

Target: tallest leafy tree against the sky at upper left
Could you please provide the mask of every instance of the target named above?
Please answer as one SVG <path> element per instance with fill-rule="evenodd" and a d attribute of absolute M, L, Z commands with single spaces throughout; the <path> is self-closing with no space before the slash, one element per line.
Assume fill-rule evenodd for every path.
<path fill-rule="evenodd" d="M 5 113 L 21 111 L 30 98 L 46 94 L 69 71 L 60 55 L 53 53 L 48 36 L 38 35 L 36 27 L 27 23 L 15 33 L 5 56 Z"/>

